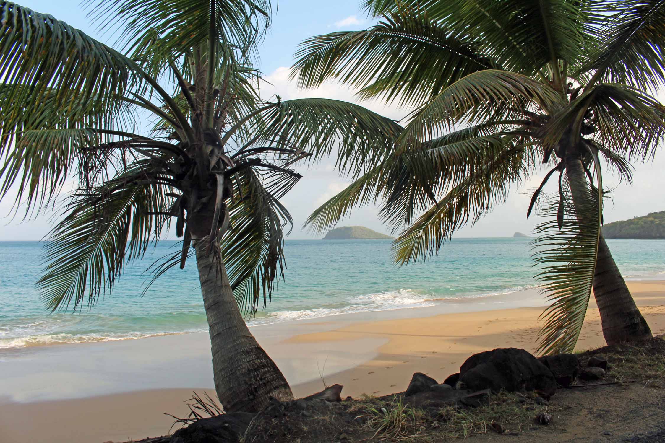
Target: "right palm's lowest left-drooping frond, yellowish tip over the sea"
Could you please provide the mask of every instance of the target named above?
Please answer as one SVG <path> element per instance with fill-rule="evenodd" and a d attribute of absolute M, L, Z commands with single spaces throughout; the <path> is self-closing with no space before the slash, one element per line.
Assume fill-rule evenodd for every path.
<path fill-rule="evenodd" d="M 456 230 L 502 203 L 511 185 L 531 173 L 535 159 L 523 146 L 487 159 L 394 240 L 392 258 L 398 264 L 426 260 L 438 254 Z"/>

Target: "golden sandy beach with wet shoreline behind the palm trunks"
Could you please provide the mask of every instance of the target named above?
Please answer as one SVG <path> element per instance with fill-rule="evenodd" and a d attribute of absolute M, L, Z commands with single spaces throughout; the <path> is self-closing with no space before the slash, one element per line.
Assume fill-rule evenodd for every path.
<path fill-rule="evenodd" d="M 630 290 L 654 334 L 665 332 L 665 282 Z M 412 373 L 439 381 L 469 355 L 535 351 L 544 301 L 535 291 L 253 327 L 296 397 L 344 385 L 342 396 L 403 391 Z M 578 349 L 604 345 L 595 304 Z M 0 441 L 122 442 L 167 434 L 192 391 L 213 393 L 203 333 L 0 353 Z"/>

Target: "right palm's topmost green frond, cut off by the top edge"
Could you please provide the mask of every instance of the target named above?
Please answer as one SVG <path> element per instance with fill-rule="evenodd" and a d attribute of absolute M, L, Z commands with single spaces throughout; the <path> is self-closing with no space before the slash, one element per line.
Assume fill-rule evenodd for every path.
<path fill-rule="evenodd" d="M 553 58 L 581 62 L 581 49 L 589 46 L 586 1 L 367 0 L 364 5 L 375 16 L 406 6 L 427 11 L 430 20 L 476 37 L 499 66 L 527 76 L 535 76 Z"/>

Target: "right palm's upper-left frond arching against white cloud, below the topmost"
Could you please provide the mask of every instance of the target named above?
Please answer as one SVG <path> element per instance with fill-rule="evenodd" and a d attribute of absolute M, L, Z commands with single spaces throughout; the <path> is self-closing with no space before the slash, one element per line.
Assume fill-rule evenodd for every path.
<path fill-rule="evenodd" d="M 452 33 L 426 13 L 400 9 L 367 31 L 307 39 L 291 75 L 300 86 L 336 78 L 360 88 L 362 98 L 421 104 L 471 72 L 498 67 L 479 53 L 470 37 Z"/>

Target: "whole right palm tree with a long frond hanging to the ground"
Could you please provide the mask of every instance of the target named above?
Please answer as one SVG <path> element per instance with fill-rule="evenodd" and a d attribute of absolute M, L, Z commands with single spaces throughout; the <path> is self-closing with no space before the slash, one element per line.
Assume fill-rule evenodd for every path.
<path fill-rule="evenodd" d="M 533 194 L 537 276 L 551 306 L 540 350 L 571 351 L 591 289 L 607 343 L 650 329 L 602 237 L 601 159 L 632 179 L 650 159 L 664 108 L 648 91 L 665 81 L 660 0 L 368 0 L 381 21 L 366 31 L 312 37 L 293 76 L 336 79 L 360 98 L 414 108 L 386 161 L 317 209 L 326 229 L 352 207 L 382 202 L 400 264 L 425 259 L 465 224 L 547 165 Z M 551 177 L 558 191 L 543 191 Z"/>

